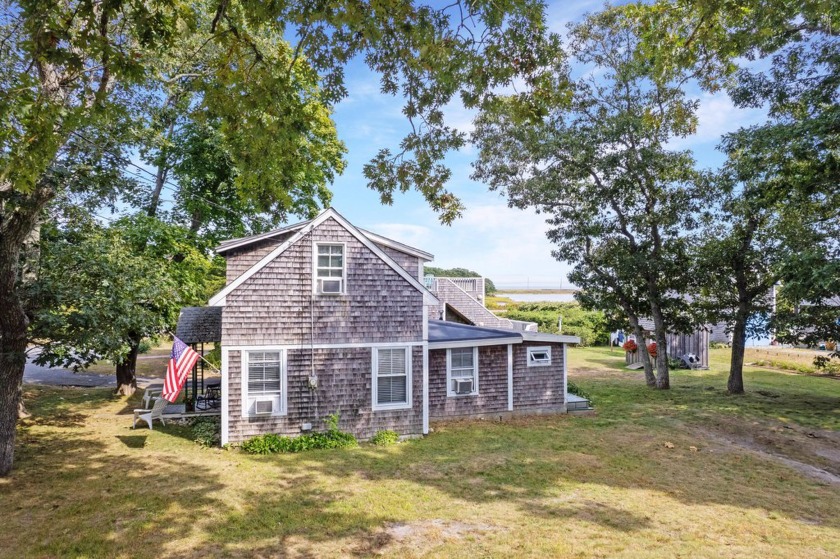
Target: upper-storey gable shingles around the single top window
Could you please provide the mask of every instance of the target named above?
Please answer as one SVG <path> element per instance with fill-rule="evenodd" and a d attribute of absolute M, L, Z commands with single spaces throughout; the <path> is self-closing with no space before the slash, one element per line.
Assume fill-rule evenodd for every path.
<path fill-rule="evenodd" d="M 314 242 L 346 243 L 346 295 L 313 296 Z M 423 294 L 332 219 L 226 299 L 222 345 L 228 347 L 423 338 Z"/>

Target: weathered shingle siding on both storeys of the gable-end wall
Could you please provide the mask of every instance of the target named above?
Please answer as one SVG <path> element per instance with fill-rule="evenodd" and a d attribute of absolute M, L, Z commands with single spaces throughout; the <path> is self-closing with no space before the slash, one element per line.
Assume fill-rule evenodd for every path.
<path fill-rule="evenodd" d="M 234 276 L 284 240 L 260 243 L 255 249 L 257 256 L 243 251 L 229 257 L 228 262 L 234 260 L 238 266 Z M 313 295 L 312 248 L 316 242 L 345 243 L 346 294 Z M 245 267 L 243 262 L 251 264 Z M 422 309 L 420 291 L 335 220 L 328 219 L 227 295 L 222 346 L 422 342 Z M 334 412 L 341 415 L 342 429 L 361 438 L 380 429 L 403 435 L 422 433 L 422 346 L 412 351 L 413 408 L 409 410 L 372 411 L 370 347 L 315 349 L 315 391 L 309 389 L 310 354 L 309 349 L 287 350 L 286 416 L 242 417 L 242 355 L 229 351 L 231 442 L 262 433 L 297 435 L 303 423 L 323 430 L 323 418 Z"/>

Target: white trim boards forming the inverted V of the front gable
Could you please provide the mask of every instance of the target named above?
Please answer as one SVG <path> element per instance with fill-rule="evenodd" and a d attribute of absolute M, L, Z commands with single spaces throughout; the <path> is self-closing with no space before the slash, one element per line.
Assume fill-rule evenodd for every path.
<path fill-rule="evenodd" d="M 251 276 L 265 268 L 270 262 L 272 262 L 275 258 L 279 255 L 283 254 L 290 246 L 297 243 L 301 240 L 304 236 L 306 236 L 310 231 L 324 223 L 327 219 L 334 219 L 339 225 L 341 225 L 348 233 L 353 235 L 360 243 L 365 245 L 371 252 L 376 254 L 383 262 L 385 262 L 388 266 L 390 266 L 397 274 L 399 274 L 404 280 L 412 285 L 417 291 L 423 294 L 424 304 L 426 305 L 437 305 L 440 303 L 437 297 L 435 297 L 431 291 L 426 289 L 422 283 L 417 281 L 417 278 L 409 274 L 402 266 L 394 262 L 394 260 L 385 254 L 385 252 L 380 249 L 373 241 L 371 241 L 364 233 L 362 233 L 359 229 L 357 229 L 352 223 L 347 221 L 341 214 L 335 211 L 333 208 L 327 208 L 323 212 L 321 212 L 318 217 L 315 219 L 309 220 L 302 224 L 297 224 L 295 226 L 290 226 L 285 232 L 289 231 L 296 231 L 291 238 L 287 239 L 283 244 L 272 250 L 270 253 L 265 255 L 259 262 L 251 266 L 248 270 L 246 270 L 242 275 L 238 278 L 230 282 L 228 285 L 224 287 L 221 291 L 219 291 L 216 295 L 214 295 L 208 305 L 211 306 L 224 306 L 226 297 L 240 285 L 245 283 Z M 295 227 L 296 229 L 292 229 Z M 268 238 L 268 237 L 264 237 Z M 244 243 L 244 244 L 250 244 Z M 244 244 L 240 244 L 238 246 L 244 246 Z M 227 250 L 230 250 L 228 248 Z"/>

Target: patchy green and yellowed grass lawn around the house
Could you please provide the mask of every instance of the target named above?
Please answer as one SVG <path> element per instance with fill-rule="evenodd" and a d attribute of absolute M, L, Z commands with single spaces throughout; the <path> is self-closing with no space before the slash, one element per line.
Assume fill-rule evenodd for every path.
<path fill-rule="evenodd" d="M 569 355 L 595 416 L 271 457 L 132 431 L 107 390 L 26 387 L 0 556 L 840 556 L 840 381 L 749 369 L 727 396 L 716 350 L 657 392 L 617 351 Z"/>

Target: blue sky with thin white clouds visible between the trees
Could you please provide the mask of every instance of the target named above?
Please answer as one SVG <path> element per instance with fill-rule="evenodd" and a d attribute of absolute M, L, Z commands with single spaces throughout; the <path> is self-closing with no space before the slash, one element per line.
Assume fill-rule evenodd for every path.
<path fill-rule="evenodd" d="M 553 30 L 562 32 L 568 22 L 597 11 L 602 2 L 554 2 L 548 7 Z M 567 287 L 568 265 L 551 256 L 545 237 L 544 216 L 507 207 L 505 199 L 471 181 L 471 147 L 452 154 L 449 189 L 466 205 L 463 217 L 451 226 L 441 225 L 436 214 L 416 192 L 397 194 L 392 206 L 383 206 L 368 189 L 364 164 L 382 147 L 397 147 L 408 129 L 401 114 L 402 100 L 379 93 L 378 76 L 362 63 L 347 69 L 349 97 L 336 107 L 334 119 L 348 148 L 348 166 L 333 184 L 333 206 L 352 223 L 416 246 L 435 255 L 433 265 L 473 269 L 501 287 Z M 726 94 L 689 91 L 700 99 L 700 125 L 695 136 L 673 146 L 694 151 L 703 167 L 717 166 L 722 156 L 715 150 L 721 134 L 760 122 L 761 111 L 740 110 Z M 471 114 L 458 107 L 447 113 L 450 123 L 464 131 Z"/>

